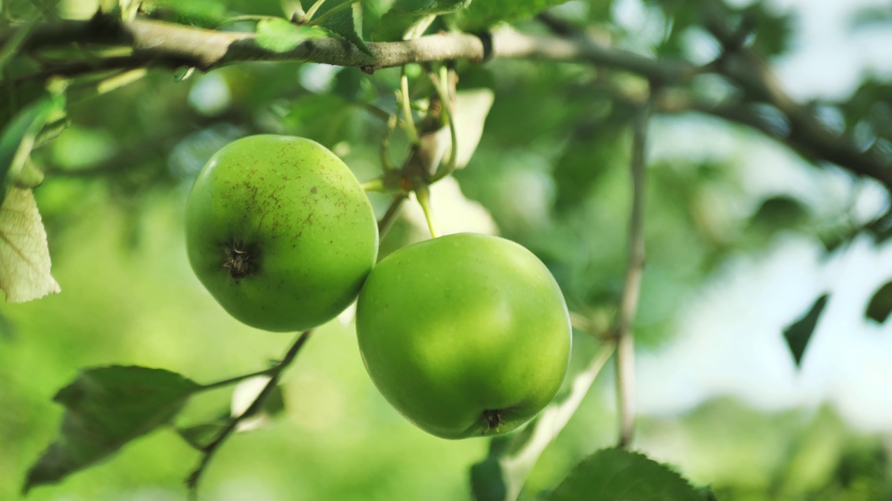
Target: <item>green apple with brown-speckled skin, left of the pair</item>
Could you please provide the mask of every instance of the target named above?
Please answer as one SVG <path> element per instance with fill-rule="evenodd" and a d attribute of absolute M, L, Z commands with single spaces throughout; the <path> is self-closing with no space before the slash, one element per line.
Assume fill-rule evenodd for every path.
<path fill-rule="evenodd" d="M 248 136 L 202 169 L 186 201 L 195 275 L 227 312 L 275 332 L 310 329 L 356 299 L 375 265 L 375 214 L 321 144 Z"/>

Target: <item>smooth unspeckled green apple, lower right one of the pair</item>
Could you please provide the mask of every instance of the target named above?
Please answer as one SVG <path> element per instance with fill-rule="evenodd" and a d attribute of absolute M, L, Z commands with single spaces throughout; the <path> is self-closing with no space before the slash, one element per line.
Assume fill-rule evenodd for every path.
<path fill-rule="evenodd" d="M 382 259 L 359 293 L 368 374 L 393 407 L 444 439 L 515 430 L 549 404 L 571 349 L 564 296 L 516 242 L 450 234 Z"/>

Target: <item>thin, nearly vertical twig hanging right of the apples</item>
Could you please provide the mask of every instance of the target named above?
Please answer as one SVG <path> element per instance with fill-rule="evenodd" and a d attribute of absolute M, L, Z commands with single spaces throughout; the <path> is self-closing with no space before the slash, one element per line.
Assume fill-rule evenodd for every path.
<path fill-rule="evenodd" d="M 635 342 L 632 322 L 638 309 L 641 275 L 644 273 L 644 201 L 647 188 L 646 147 L 648 120 L 654 89 L 638 111 L 632 129 L 632 217 L 629 222 L 629 262 L 623 296 L 616 318 L 616 401 L 619 414 L 619 447 L 628 447 L 635 429 Z"/>

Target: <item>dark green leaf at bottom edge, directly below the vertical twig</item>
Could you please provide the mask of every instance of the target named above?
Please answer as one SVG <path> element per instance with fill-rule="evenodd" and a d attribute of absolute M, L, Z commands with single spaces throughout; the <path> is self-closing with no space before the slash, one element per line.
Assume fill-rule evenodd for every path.
<path fill-rule="evenodd" d="M 549 501 L 703 501 L 706 497 L 665 464 L 619 448 L 577 464 Z"/>

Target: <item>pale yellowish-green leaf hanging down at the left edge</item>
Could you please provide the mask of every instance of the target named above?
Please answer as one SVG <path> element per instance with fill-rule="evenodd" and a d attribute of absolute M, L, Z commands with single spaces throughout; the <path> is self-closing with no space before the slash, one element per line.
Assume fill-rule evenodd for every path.
<path fill-rule="evenodd" d="M 0 289 L 11 303 L 60 292 L 34 194 L 12 187 L 0 206 Z"/>

